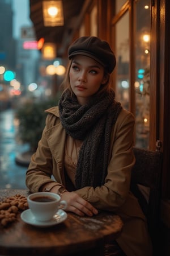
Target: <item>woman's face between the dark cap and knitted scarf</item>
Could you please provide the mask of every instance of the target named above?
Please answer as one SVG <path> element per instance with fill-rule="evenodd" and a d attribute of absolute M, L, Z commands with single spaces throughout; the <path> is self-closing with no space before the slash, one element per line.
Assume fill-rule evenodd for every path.
<path fill-rule="evenodd" d="M 80 105 L 88 102 L 106 82 L 104 68 L 97 61 L 83 55 L 73 58 L 70 72 L 70 85 Z"/>

